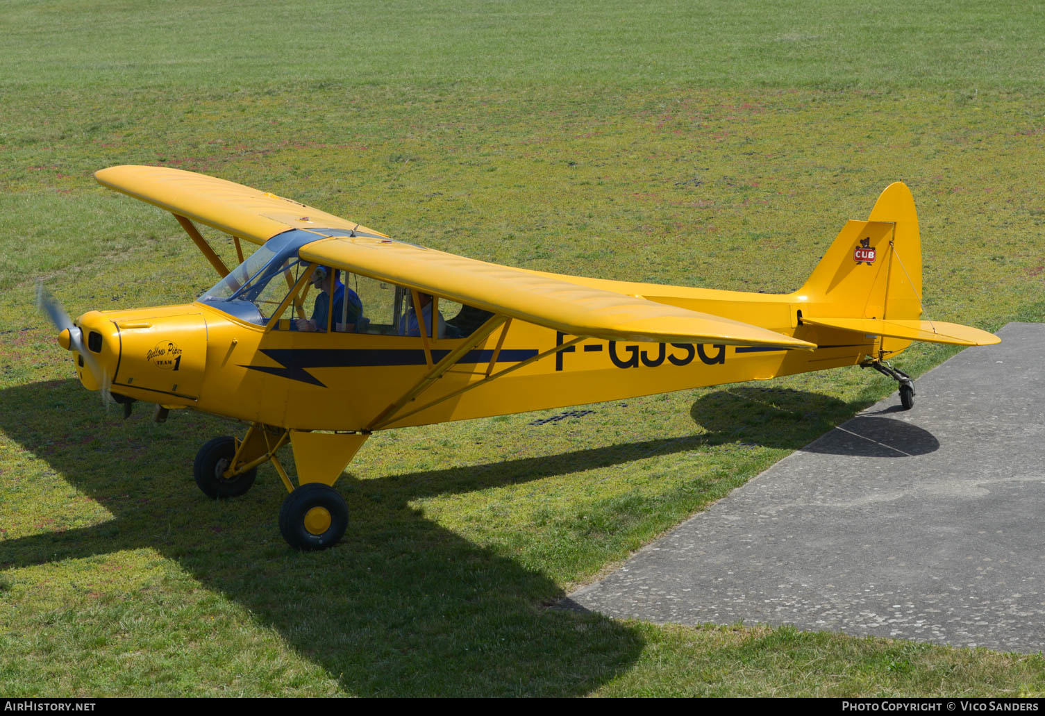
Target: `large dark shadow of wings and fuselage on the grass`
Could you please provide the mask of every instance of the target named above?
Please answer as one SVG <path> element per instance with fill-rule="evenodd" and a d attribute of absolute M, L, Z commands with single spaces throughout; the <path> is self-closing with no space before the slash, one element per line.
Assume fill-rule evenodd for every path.
<path fill-rule="evenodd" d="M 0 570 L 155 549 L 362 695 L 580 695 L 627 670 L 643 647 L 636 630 L 599 615 L 539 608 L 562 596 L 554 581 L 408 503 L 697 444 L 649 441 L 371 480 L 348 474 L 339 483 L 351 515 L 344 541 L 300 554 L 279 537 L 272 505 L 283 488 L 271 468 L 251 492 L 224 504 L 192 483 L 198 443 L 210 434 L 198 431 L 213 433 L 222 422 L 195 414 L 178 417 L 203 428 L 178 432 L 117 419 L 99 425 L 96 399 L 75 380 L 0 392 L 0 430 L 114 515 L 6 539 Z M 93 417 L 70 418 L 82 414 Z M 157 453 L 166 456 L 162 463 Z"/>

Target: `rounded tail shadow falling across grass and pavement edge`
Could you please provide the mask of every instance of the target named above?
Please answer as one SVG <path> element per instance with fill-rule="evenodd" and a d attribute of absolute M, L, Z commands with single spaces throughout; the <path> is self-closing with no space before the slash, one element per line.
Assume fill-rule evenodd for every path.
<path fill-rule="evenodd" d="M 881 417 L 889 410 L 851 417 L 856 408 L 818 393 L 739 386 L 703 395 L 690 414 L 707 431 L 706 444 L 741 442 L 873 458 L 926 455 L 939 448 L 928 431 Z"/>

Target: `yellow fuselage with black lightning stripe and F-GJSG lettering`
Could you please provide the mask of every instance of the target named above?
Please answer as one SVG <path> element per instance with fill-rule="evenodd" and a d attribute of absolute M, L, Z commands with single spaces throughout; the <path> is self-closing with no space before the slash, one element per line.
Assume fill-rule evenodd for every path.
<path fill-rule="evenodd" d="M 516 320 L 465 352 L 414 400 L 382 416 L 467 339 L 265 330 L 201 302 L 92 311 L 78 324 L 85 336 L 101 334 L 99 356 L 115 394 L 319 431 L 401 428 L 767 379 L 856 365 L 881 342 L 870 337 L 854 343 L 852 331 L 802 325 L 800 311 L 817 307 L 800 294 L 560 278 L 760 325 L 819 347 L 584 339 L 563 348 L 574 337 Z M 80 374 L 87 387 L 97 387 L 89 372 L 82 368 Z M 375 422 L 379 417 L 382 423 Z"/>

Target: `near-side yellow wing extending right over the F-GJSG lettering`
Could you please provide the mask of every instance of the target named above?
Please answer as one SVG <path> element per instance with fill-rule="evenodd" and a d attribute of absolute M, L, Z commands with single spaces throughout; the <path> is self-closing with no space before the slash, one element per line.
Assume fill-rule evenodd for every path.
<path fill-rule="evenodd" d="M 307 244 L 298 253 L 309 261 L 398 283 L 571 336 L 610 341 L 816 347 L 748 323 L 392 239 L 339 236 Z"/>

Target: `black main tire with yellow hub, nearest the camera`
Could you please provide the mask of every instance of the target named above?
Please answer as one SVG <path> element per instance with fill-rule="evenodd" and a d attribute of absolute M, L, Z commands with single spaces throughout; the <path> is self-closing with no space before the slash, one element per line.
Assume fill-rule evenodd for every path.
<path fill-rule="evenodd" d="M 279 509 L 279 531 L 296 550 L 333 547 L 348 528 L 348 505 L 334 488 L 305 483 L 286 495 Z"/>

